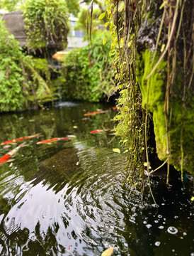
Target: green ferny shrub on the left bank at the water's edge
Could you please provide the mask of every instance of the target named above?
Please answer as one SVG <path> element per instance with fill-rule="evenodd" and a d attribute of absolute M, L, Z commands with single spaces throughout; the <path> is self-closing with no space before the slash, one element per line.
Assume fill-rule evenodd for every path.
<path fill-rule="evenodd" d="M 56 95 L 50 87 L 47 61 L 24 55 L 2 21 L 0 33 L 0 111 L 42 106 L 53 100 Z"/>

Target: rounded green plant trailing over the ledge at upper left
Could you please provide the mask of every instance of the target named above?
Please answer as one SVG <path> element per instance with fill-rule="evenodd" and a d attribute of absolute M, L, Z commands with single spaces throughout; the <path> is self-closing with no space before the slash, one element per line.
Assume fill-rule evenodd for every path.
<path fill-rule="evenodd" d="M 26 0 L 23 5 L 28 47 L 44 48 L 62 42 L 67 46 L 68 10 L 63 0 Z"/>

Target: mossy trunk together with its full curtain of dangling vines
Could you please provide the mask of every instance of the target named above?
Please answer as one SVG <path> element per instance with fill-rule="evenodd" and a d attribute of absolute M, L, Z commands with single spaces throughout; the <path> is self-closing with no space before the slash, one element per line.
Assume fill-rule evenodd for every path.
<path fill-rule="evenodd" d="M 115 80 L 120 97 L 115 134 L 130 152 L 127 180 L 144 184 L 149 162 L 149 120 L 156 151 L 178 171 L 193 171 L 193 2 L 190 0 L 106 0 L 103 14 L 112 35 Z M 101 14 L 102 15 L 102 14 Z M 153 119 L 153 121 L 152 121 Z"/>

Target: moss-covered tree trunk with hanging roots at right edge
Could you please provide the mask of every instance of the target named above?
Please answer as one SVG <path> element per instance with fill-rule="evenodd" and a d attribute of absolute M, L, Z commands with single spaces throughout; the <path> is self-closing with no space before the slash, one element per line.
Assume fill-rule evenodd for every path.
<path fill-rule="evenodd" d="M 137 36 L 142 107 L 153 114 L 156 151 L 193 172 L 193 1 L 155 1 Z M 149 14 L 152 16 L 149 17 Z"/>

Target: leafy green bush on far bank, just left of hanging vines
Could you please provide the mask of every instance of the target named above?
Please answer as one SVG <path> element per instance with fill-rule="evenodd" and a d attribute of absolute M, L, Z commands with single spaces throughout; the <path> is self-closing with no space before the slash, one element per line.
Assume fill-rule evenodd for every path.
<path fill-rule="evenodd" d="M 103 38 L 108 42 L 103 44 Z M 63 97 L 98 102 L 103 95 L 110 95 L 114 82 L 109 52 L 108 33 L 93 38 L 91 48 L 86 46 L 69 52 L 62 69 L 62 77 L 66 79 Z"/>

